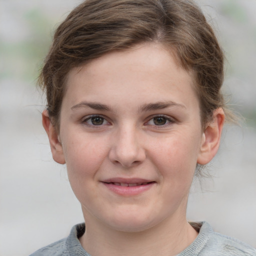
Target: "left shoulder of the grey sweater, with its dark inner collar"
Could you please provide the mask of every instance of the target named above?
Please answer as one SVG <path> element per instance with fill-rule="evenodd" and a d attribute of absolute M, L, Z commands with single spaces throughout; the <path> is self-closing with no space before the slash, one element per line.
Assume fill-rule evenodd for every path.
<path fill-rule="evenodd" d="M 38 249 L 30 256 L 72 256 L 72 255 L 89 255 L 82 248 L 78 237 L 85 230 L 84 223 L 77 224 L 72 227 L 70 234 L 59 241 L 51 243 L 43 248 Z"/>

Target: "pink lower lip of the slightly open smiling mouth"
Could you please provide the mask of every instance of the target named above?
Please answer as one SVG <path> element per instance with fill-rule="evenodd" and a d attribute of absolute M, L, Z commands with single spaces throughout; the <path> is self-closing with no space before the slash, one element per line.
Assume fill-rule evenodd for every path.
<path fill-rule="evenodd" d="M 150 182 L 145 185 L 138 185 L 138 186 L 121 186 L 115 185 L 113 183 L 106 183 L 102 182 L 110 191 L 122 195 L 122 196 L 132 196 L 138 195 L 148 189 L 150 189 L 155 182 Z"/>

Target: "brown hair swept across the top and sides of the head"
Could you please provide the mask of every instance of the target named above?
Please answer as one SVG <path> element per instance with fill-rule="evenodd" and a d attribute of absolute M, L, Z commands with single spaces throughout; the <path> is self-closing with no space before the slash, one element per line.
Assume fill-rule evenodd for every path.
<path fill-rule="evenodd" d="M 143 42 L 162 44 L 191 71 L 202 125 L 214 109 L 224 107 L 223 53 L 192 0 L 86 0 L 57 27 L 39 76 L 53 125 L 59 128 L 65 79 L 72 67 Z"/>

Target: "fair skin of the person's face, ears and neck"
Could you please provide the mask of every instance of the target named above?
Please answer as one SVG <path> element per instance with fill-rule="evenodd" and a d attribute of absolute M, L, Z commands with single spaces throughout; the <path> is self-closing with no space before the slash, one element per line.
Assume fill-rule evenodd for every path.
<path fill-rule="evenodd" d="M 186 221 L 196 163 L 215 155 L 223 110 L 202 130 L 191 75 L 154 43 L 73 68 L 66 86 L 59 133 L 46 110 L 42 123 L 81 203 L 82 246 L 100 256 L 182 251 L 197 235 Z"/>

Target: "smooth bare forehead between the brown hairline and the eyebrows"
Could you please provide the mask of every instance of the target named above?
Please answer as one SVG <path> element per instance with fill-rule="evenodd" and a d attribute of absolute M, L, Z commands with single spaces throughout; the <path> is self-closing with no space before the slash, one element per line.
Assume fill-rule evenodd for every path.
<path fill-rule="evenodd" d="M 63 101 L 75 104 L 82 98 L 108 101 L 118 97 L 140 101 L 191 101 L 195 96 L 192 75 L 184 70 L 170 51 L 159 44 L 137 45 L 125 51 L 105 54 L 70 70 Z M 131 100 L 130 100 L 131 101 Z M 64 102 L 63 102 L 64 103 Z"/>

